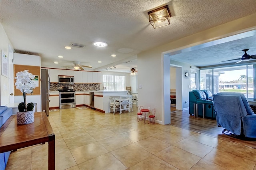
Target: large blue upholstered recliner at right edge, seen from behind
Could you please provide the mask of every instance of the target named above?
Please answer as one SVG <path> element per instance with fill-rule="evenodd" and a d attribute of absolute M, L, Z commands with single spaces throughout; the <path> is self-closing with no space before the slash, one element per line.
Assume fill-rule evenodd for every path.
<path fill-rule="evenodd" d="M 218 127 L 226 128 L 224 134 L 256 138 L 256 114 L 242 93 L 221 92 L 213 100 Z"/>

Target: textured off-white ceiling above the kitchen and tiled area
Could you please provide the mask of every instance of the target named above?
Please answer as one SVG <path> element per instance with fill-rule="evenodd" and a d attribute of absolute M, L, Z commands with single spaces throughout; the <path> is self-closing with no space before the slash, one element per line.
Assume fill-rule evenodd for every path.
<path fill-rule="evenodd" d="M 166 4 L 171 25 L 154 29 L 147 12 Z M 0 0 L 0 22 L 16 52 L 40 55 L 42 67 L 65 68 L 61 65 L 80 61 L 104 71 L 124 63 L 116 70 L 129 71 L 136 62 L 125 61 L 136 61 L 141 51 L 254 14 L 255 9 L 255 0 Z M 94 47 L 96 41 L 108 47 Z M 66 50 L 71 43 L 86 46 Z"/>

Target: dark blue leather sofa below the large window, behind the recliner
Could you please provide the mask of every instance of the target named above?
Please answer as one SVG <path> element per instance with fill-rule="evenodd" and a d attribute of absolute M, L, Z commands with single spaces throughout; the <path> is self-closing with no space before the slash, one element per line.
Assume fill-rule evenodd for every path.
<path fill-rule="evenodd" d="M 190 91 L 189 114 L 203 118 L 216 119 L 212 93 L 208 90 Z"/>

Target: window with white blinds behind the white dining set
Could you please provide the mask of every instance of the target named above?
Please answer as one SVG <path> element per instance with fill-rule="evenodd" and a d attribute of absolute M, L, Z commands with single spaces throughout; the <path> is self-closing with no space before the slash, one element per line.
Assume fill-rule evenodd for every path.
<path fill-rule="evenodd" d="M 123 75 L 103 75 L 103 86 L 110 91 L 125 90 L 125 76 Z"/>

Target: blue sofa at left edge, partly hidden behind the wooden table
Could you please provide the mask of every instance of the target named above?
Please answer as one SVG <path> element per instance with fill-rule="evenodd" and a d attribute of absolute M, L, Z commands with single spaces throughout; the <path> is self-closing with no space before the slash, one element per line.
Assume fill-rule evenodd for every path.
<path fill-rule="evenodd" d="M 8 108 L 6 106 L 0 106 L 0 127 L 4 125 L 4 123 L 9 119 L 11 115 L 12 115 L 12 108 Z M 11 153 L 10 151 L 0 153 L 0 170 L 5 169 L 10 153 Z"/>

